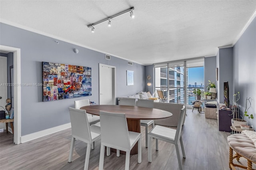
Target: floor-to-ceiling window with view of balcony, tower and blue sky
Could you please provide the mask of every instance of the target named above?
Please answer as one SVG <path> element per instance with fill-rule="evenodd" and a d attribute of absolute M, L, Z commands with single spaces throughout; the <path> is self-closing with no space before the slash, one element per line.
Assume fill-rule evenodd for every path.
<path fill-rule="evenodd" d="M 193 89 L 204 91 L 204 58 L 154 64 L 155 97 L 162 90 L 168 103 L 187 106 L 195 100 Z M 202 93 L 203 95 L 203 93 Z"/>

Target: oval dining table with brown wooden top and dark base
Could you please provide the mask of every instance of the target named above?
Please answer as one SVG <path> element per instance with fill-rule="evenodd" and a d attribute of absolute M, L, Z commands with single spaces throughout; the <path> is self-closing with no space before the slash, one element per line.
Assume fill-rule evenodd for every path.
<path fill-rule="evenodd" d="M 140 120 L 154 120 L 171 117 L 172 113 L 160 109 L 147 107 L 123 106 L 123 105 L 91 105 L 84 106 L 80 109 L 86 110 L 86 113 L 100 115 L 100 111 L 112 113 L 125 113 L 128 130 L 140 133 Z M 122 153 L 120 151 L 120 153 Z M 123 152 L 122 154 L 124 154 Z M 130 154 L 138 154 L 138 143 L 132 148 Z"/>

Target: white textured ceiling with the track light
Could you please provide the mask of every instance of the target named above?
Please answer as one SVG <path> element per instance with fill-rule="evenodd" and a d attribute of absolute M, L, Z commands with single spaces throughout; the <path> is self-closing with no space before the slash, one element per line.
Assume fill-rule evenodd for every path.
<path fill-rule="evenodd" d="M 0 21 L 140 64 L 214 56 L 233 45 L 256 0 L 0 1 Z M 98 22 L 134 6 L 129 12 Z"/>

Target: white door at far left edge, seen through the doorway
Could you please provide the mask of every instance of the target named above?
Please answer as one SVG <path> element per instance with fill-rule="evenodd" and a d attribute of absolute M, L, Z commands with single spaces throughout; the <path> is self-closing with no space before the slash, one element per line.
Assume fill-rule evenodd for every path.
<path fill-rule="evenodd" d="M 1 98 L 2 97 L 2 98 Z M 0 106 L 5 108 L 7 99 L 7 57 L 0 56 Z M 4 110 L 0 107 L 0 110 Z M 5 123 L 0 123 L 0 129 L 6 129 Z"/>

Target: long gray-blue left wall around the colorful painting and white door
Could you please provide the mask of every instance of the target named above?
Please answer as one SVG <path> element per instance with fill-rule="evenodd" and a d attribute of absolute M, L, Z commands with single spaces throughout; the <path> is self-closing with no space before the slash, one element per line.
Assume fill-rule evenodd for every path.
<path fill-rule="evenodd" d="M 99 102 L 99 63 L 116 66 L 116 97 L 145 91 L 145 66 L 111 56 L 78 45 L 22 30 L 0 23 L 0 44 L 20 48 L 21 83 L 42 83 L 42 61 L 92 67 L 92 96 L 86 97 Z M 73 52 L 77 48 L 79 53 Z M 126 86 L 126 70 L 134 71 L 134 86 Z M 70 123 L 68 107 L 74 100 L 42 102 L 42 87 L 21 87 L 21 135 Z"/>

